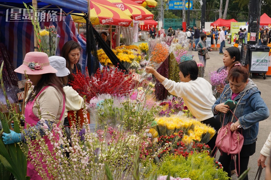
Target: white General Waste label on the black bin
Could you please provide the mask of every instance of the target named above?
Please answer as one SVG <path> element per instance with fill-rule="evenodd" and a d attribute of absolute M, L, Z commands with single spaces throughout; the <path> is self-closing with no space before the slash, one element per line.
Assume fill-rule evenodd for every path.
<path fill-rule="evenodd" d="M 269 52 L 252 52 L 251 71 L 268 71 Z"/>

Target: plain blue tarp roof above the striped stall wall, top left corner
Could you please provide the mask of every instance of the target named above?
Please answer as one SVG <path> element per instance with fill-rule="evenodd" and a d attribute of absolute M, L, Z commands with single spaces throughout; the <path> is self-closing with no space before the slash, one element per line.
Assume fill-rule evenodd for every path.
<path fill-rule="evenodd" d="M 32 0 L 0 0 L 0 11 L 6 11 L 7 8 L 1 5 L 12 6 L 16 8 L 25 8 L 24 3 L 27 5 L 32 5 Z M 38 0 L 37 1 L 37 8 L 43 8 L 47 5 L 50 5 L 48 8 L 58 9 L 57 6 L 62 8 L 62 11 L 68 13 L 73 11 L 72 13 L 81 13 L 81 12 L 88 12 L 88 1 L 86 0 Z"/>

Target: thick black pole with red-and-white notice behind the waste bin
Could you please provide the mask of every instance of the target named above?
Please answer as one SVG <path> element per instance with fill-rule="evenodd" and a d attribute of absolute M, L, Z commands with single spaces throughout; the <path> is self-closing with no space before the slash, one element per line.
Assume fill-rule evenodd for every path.
<path fill-rule="evenodd" d="M 250 41 L 248 41 L 250 45 L 259 43 L 261 3 L 260 0 L 249 1 L 249 28 L 247 32 L 250 33 Z"/>

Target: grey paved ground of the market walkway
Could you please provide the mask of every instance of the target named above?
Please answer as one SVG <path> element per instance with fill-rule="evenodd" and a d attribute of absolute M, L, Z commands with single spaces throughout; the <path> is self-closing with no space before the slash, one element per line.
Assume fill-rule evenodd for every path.
<path fill-rule="evenodd" d="M 226 47 L 229 47 L 230 45 L 226 45 Z M 225 48 L 223 48 L 224 52 Z M 205 79 L 209 81 L 209 72 L 216 71 L 219 67 L 223 66 L 223 55 L 219 55 L 219 51 L 212 51 L 208 53 L 210 56 L 210 59 L 207 60 L 206 63 L 206 70 L 205 74 L 206 77 Z M 197 55 L 197 52 L 193 51 L 192 55 L 195 55 L 195 60 L 199 62 L 199 58 Z M 269 111 L 271 111 L 271 96 L 270 96 L 270 90 L 271 90 L 271 77 L 267 77 L 265 80 L 261 76 L 253 76 L 252 80 L 254 83 L 257 84 L 259 90 L 262 92 L 261 96 L 266 103 L 267 107 L 269 108 Z M 256 141 L 256 153 L 250 157 L 249 160 L 249 167 L 250 167 L 250 172 L 249 172 L 249 179 L 254 179 L 256 176 L 257 172 L 257 159 L 260 156 L 260 150 L 263 147 L 263 144 L 265 143 L 270 131 L 271 131 L 271 117 L 268 119 L 261 121 L 259 125 L 259 134 L 258 134 L 258 140 Z M 217 154 L 217 159 L 219 157 L 219 154 Z M 263 170 L 262 177 L 260 178 L 261 180 L 264 180 L 264 174 L 265 170 Z M 232 179 L 237 179 L 236 175 L 232 177 Z"/>

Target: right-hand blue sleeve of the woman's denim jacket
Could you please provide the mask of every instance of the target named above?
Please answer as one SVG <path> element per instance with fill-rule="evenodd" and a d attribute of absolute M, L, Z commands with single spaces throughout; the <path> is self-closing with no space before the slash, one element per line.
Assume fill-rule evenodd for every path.
<path fill-rule="evenodd" d="M 250 128 L 253 124 L 269 117 L 269 110 L 259 91 L 250 96 L 248 103 L 254 111 L 241 116 L 238 120 L 244 129 Z"/>

